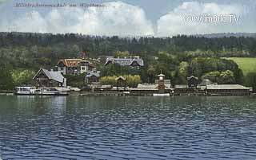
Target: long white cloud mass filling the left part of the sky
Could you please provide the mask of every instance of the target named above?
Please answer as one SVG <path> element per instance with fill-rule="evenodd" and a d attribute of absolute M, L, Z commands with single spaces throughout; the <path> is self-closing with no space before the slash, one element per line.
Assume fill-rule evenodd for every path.
<path fill-rule="evenodd" d="M 0 25 L 10 29 L 35 33 L 84 33 L 94 35 L 146 36 L 153 35 L 151 21 L 142 8 L 124 2 L 106 2 L 105 7 L 65 8 L 50 10 L 42 15 L 33 11 Z M 10 26 L 10 27 L 6 27 Z"/>

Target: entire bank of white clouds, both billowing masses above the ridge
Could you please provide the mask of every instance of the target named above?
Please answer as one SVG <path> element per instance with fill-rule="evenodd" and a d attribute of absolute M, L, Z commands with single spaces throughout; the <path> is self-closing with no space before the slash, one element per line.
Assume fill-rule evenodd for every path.
<path fill-rule="evenodd" d="M 0 0 L 1 1 L 1 0 Z M 52 9 L 48 13 L 34 10 L 14 19 L 0 20 L 0 31 L 34 33 L 83 33 L 90 35 L 157 36 L 177 34 L 241 32 L 238 23 L 203 23 L 185 21 L 187 15 L 236 14 L 242 19 L 244 6 L 220 5 L 217 3 L 183 2 L 160 17 L 157 25 L 146 18 L 139 6 L 125 2 L 102 3 L 105 7 Z"/>

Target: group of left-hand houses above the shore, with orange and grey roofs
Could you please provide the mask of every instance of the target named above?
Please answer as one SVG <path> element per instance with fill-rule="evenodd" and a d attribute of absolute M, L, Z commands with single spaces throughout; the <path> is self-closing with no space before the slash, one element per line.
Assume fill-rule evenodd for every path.
<path fill-rule="evenodd" d="M 37 87 L 66 87 L 65 75 L 80 75 L 86 73 L 85 84 L 98 84 L 100 72 L 96 64 L 97 59 L 73 58 L 61 59 L 57 63 L 57 71 L 41 68 L 33 77 L 33 82 Z M 142 58 L 135 57 L 106 57 L 105 66 L 109 64 L 119 64 L 120 66 L 130 66 L 141 68 L 144 66 Z"/>

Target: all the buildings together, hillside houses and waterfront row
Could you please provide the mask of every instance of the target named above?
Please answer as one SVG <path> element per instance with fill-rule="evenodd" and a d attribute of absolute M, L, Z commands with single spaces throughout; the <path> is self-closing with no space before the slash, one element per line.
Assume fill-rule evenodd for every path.
<path fill-rule="evenodd" d="M 65 75 L 79 75 L 85 73 L 84 84 L 99 86 L 100 72 L 96 69 L 98 60 L 94 59 L 61 59 L 58 60 L 57 71 L 41 68 L 33 77 L 36 87 L 67 87 Z M 130 66 L 131 68 L 141 68 L 144 61 L 140 57 L 106 57 L 105 66 L 109 64 L 119 64 L 120 66 Z M 126 88 L 126 78 L 120 76 L 116 80 L 116 87 L 102 86 L 95 87 L 97 91 L 105 90 L 114 92 L 129 92 L 130 95 L 250 95 L 252 88 L 246 88 L 239 84 L 214 84 L 210 80 L 202 80 L 199 83 L 198 77 L 187 77 L 187 84 L 172 86 L 170 80 L 165 80 L 165 75 L 158 75 L 158 80 L 154 84 L 138 84 L 137 88 Z"/>

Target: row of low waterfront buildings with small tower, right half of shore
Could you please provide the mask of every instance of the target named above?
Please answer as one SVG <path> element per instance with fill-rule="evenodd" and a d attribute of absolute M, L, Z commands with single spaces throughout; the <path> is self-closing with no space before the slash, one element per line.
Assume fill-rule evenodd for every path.
<path fill-rule="evenodd" d="M 187 77 L 187 84 L 172 86 L 170 80 L 165 80 L 165 75 L 158 75 L 155 84 L 138 84 L 138 88 L 129 88 L 130 95 L 145 96 L 154 94 L 182 95 L 208 95 L 208 96 L 248 96 L 253 92 L 240 84 L 214 84 L 205 79 L 199 83 L 198 77 Z"/>

